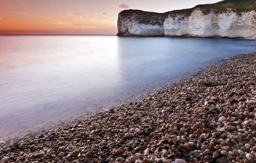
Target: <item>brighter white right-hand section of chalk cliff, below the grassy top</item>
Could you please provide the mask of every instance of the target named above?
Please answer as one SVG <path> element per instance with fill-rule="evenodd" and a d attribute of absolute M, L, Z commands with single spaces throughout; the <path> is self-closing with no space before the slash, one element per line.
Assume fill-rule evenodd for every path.
<path fill-rule="evenodd" d="M 200 8 L 191 15 L 168 15 L 165 36 L 220 37 L 256 39 L 256 12 L 222 12 L 212 9 L 205 14 Z"/>

